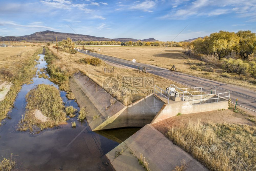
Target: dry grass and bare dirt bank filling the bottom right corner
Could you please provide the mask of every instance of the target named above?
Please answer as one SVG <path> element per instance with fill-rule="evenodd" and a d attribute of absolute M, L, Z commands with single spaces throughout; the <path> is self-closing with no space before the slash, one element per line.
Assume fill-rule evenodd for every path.
<path fill-rule="evenodd" d="M 174 116 L 153 126 L 209 170 L 254 170 L 256 127 L 242 112 Z"/>

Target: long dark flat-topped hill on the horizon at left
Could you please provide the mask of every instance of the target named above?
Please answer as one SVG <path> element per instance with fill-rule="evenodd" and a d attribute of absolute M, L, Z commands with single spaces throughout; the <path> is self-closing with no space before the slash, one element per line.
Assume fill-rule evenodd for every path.
<path fill-rule="evenodd" d="M 27 36 L 6 36 L 3 37 L 4 41 L 8 41 L 8 38 L 10 40 L 15 40 L 15 41 L 42 41 L 42 42 L 48 42 L 48 41 L 56 41 L 56 36 L 59 41 L 66 39 L 66 38 L 71 38 L 72 41 L 138 41 L 138 39 L 134 38 L 105 38 L 105 37 L 95 37 L 95 36 L 89 36 L 89 35 L 82 35 L 82 34 L 73 34 L 73 33 L 60 33 L 60 32 L 54 32 L 50 30 L 42 31 L 42 32 L 35 32 L 31 35 Z M 2 38 L 2 39 L 3 39 Z M 81 39 L 82 38 L 82 39 Z M 143 39 L 141 41 L 158 41 L 155 40 L 154 38 L 149 38 L 149 39 Z"/>

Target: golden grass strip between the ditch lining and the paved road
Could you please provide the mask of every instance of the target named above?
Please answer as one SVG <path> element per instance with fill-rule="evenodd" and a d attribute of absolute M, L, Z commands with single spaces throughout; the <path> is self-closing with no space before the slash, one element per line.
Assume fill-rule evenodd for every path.
<path fill-rule="evenodd" d="M 48 56 L 51 56 L 48 60 Z M 177 84 L 174 81 L 170 81 L 168 79 L 155 76 L 153 74 L 145 74 L 145 73 L 138 73 L 134 72 L 132 69 L 124 69 L 124 68 L 117 68 L 115 67 L 114 72 L 106 72 L 104 73 L 104 68 L 106 69 L 112 69 L 107 64 L 102 62 L 99 66 L 92 66 L 85 63 L 80 63 L 81 58 L 85 58 L 86 55 L 82 53 L 76 53 L 76 54 L 69 54 L 65 53 L 63 51 L 59 51 L 59 54 L 57 54 L 57 50 L 49 47 L 49 50 L 46 49 L 46 61 L 49 63 L 48 65 L 48 71 L 50 70 L 49 75 L 51 76 L 50 80 L 56 82 L 60 85 L 60 87 L 66 87 L 65 89 L 67 91 L 70 91 L 70 88 L 68 86 L 68 77 L 72 76 L 74 73 L 81 71 L 86 76 L 88 76 L 91 80 L 93 80 L 96 84 L 102 87 L 103 81 L 107 77 L 114 77 L 119 82 L 119 90 L 113 93 L 113 97 L 115 97 L 118 101 L 121 101 L 125 105 L 129 105 L 132 102 L 135 102 L 144 96 L 148 95 L 149 93 L 154 92 L 153 86 L 145 86 L 145 87 L 132 87 L 130 85 L 127 85 L 127 87 L 124 87 L 122 82 L 124 77 L 150 77 L 154 78 L 154 84 L 157 85 L 163 89 L 166 89 L 166 87 L 169 87 L 170 84 L 175 84 L 178 87 L 184 87 L 181 84 Z M 89 56 L 88 56 L 89 58 Z M 64 86 L 62 86 L 64 85 Z M 65 90 L 64 89 L 64 90 Z M 65 90 L 65 91 L 66 91 Z M 130 91 L 129 91 L 130 90 Z M 132 90 L 138 90 L 136 93 Z M 142 90 L 146 90 L 146 93 L 141 92 Z"/>

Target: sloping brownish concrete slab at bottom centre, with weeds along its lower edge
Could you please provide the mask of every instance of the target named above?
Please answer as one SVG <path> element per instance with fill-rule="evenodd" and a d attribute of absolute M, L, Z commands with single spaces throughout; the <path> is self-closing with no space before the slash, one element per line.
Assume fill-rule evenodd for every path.
<path fill-rule="evenodd" d="M 124 154 L 114 159 L 115 151 L 124 149 Z M 130 155 L 129 155 L 129 153 Z M 138 160 L 132 159 L 132 155 L 140 158 L 143 154 L 149 162 L 150 170 L 173 170 L 181 165 L 184 159 L 186 170 L 207 170 L 202 164 L 196 161 L 188 153 L 183 151 L 172 141 L 157 131 L 151 124 L 147 124 L 141 130 L 129 137 L 123 143 L 106 154 L 115 170 L 133 170 L 138 165 Z M 129 160 L 129 164 L 126 163 Z M 143 169 L 143 167 L 141 166 Z"/>

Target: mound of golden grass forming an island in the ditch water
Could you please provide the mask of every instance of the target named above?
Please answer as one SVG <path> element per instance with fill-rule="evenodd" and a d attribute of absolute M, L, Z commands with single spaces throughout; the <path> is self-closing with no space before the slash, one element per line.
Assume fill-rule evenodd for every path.
<path fill-rule="evenodd" d="M 26 114 L 19 122 L 18 130 L 38 133 L 40 130 L 57 126 L 67 120 L 60 92 L 53 86 L 39 84 L 38 87 L 29 91 L 26 101 Z M 50 121 L 42 122 L 35 118 L 36 109 L 50 118 Z"/>

